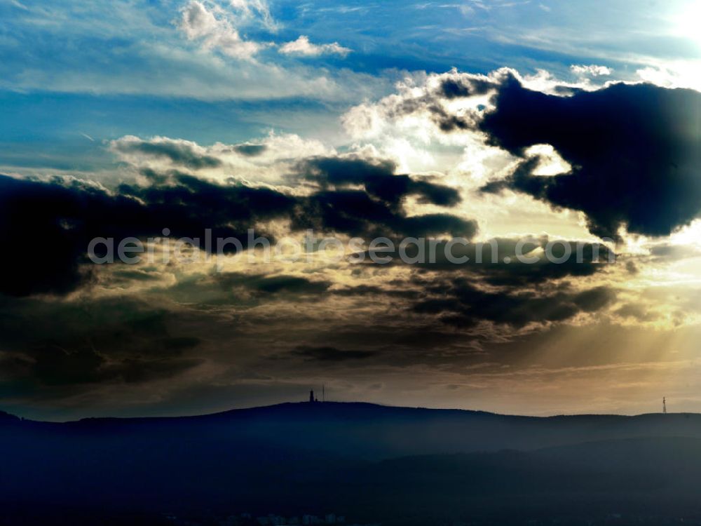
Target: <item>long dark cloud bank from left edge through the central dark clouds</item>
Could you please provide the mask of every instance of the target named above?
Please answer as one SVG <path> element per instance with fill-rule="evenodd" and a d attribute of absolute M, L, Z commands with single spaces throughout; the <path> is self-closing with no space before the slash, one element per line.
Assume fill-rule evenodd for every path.
<path fill-rule="evenodd" d="M 247 244 L 247 229 L 261 222 L 290 219 L 295 229 L 313 228 L 353 236 L 471 237 L 477 224 L 449 214 L 407 217 L 402 199 L 454 205 L 454 189 L 407 175 L 393 175 L 393 165 L 339 159 L 314 159 L 325 189 L 310 196 L 288 196 L 268 188 L 217 184 L 177 171 L 144 170 L 151 184 L 122 184 L 107 191 L 78 181 L 19 180 L 0 175 L 0 243 L 8 257 L 0 262 L 0 293 L 25 296 L 65 294 L 90 279 L 88 243 L 96 237 L 237 238 Z M 364 184 L 365 189 L 336 189 Z M 334 189 L 329 188 L 333 186 Z M 257 235 L 266 236 L 258 229 Z M 272 236 L 266 236 L 272 240 Z M 210 250 L 215 249 L 211 247 Z M 235 252 L 228 244 L 225 252 Z M 125 277 L 125 276 L 123 276 Z M 148 279 L 144 274 L 139 276 Z"/>

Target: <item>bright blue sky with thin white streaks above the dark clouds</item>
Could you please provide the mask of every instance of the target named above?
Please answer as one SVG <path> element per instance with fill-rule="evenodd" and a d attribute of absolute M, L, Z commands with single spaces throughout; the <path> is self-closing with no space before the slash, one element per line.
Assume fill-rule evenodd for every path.
<path fill-rule="evenodd" d="M 0 164 L 107 166 L 103 142 L 126 134 L 212 144 L 273 129 L 339 145 L 348 137 L 338 116 L 392 92 L 407 72 L 507 66 L 566 79 L 570 65 L 594 63 L 634 79 L 645 65 L 698 54 L 698 42 L 679 32 L 684 1 L 275 0 L 261 4 L 266 15 L 254 2 L 248 13 L 236 2 L 207 4 L 247 41 L 306 35 L 352 50 L 295 56 L 267 47 L 252 61 L 187 39 L 179 28 L 186 5 L 3 0 Z"/>

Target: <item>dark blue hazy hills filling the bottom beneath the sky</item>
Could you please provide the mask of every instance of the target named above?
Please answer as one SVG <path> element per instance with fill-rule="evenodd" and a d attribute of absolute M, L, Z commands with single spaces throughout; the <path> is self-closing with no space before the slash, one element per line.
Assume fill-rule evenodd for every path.
<path fill-rule="evenodd" d="M 243 511 L 389 525 L 701 518 L 697 414 L 300 403 L 64 424 L 0 415 L 0 452 L 0 525 L 172 522 L 166 513 L 216 524 Z"/>

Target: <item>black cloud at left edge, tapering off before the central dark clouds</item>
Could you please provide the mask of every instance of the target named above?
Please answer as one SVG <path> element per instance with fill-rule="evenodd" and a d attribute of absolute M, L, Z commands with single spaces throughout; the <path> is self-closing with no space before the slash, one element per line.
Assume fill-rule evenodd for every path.
<path fill-rule="evenodd" d="M 88 243 L 136 236 L 233 236 L 261 220 L 289 217 L 296 201 L 277 191 L 219 185 L 187 175 L 149 187 L 122 185 L 110 193 L 85 182 L 18 180 L 0 175 L 0 293 L 64 294 L 89 279 Z M 262 234 L 262 233 L 261 233 Z M 204 247 L 203 247 L 204 248 Z M 226 247 L 235 250 L 233 245 Z"/>

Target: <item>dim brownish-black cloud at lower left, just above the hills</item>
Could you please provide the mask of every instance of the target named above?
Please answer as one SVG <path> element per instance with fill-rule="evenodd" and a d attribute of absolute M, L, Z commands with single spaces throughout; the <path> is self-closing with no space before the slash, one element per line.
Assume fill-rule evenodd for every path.
<path fill-rule="evenodd" d="M 170 313 L 133 299 L 89 303 L 18 299 L 0 311 L 0 386 L 23 382 L 25 391 L 149 382 L 173 377 L 203 360 L 184 356 L 202 340 L 173 335 Z"/>

